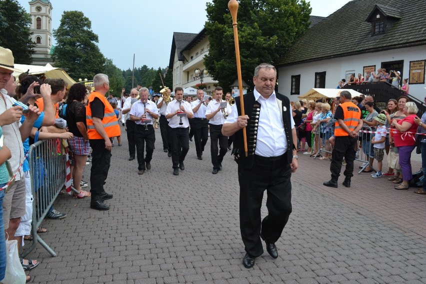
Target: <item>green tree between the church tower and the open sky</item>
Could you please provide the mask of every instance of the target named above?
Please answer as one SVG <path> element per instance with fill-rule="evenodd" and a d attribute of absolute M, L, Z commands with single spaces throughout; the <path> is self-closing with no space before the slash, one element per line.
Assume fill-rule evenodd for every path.
<path fill-rule="evenodd" d="M 57 29 L 53 29 L 56 46 L 52 58 L 57 67 L 66 68 L 74 78 L 92 78 L 104 72 L 105 57 L 91 30 L 91 21 L 80 11 L 64 11 Z"/>

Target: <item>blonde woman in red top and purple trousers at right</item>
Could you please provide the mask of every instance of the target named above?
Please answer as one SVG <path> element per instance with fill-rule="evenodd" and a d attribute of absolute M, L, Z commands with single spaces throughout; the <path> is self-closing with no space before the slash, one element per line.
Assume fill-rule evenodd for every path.
<path fill-rule="evenodd" d="M 401 166 L 403 179 L 400 184 L 395 185 L 395 189 L 397 190 L 408 189 L 408 182 L 412 179 L 411 152 L 415 147 L 414 133 L 418 126 L 418 124 L 414 122 L 414 118 L 418 111 L 415 103 L 408 101 L 405 103 L 403 111 L 406 115 L 404 118 L 399 121 L 397 119 L 392 120 L 392 124 L 396 128 L 396 131 L 393 134 L 393 140 L 395 146 L 398 147 L 399 165 Z"/>

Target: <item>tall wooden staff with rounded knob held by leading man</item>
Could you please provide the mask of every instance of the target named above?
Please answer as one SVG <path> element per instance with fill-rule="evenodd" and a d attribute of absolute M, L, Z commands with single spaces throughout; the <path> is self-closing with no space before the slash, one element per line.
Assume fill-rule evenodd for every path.
<path fill-rule="evenodd" d="M 232 27 L 233 27 L 233 39 L 235 41 L 235 57 L 236 57 L 236 71 L 238 74 L 238 88 L 239 88 L 239 102 L 241 106 L 241 115 L 245 115 L 244 113 L 244 99 L 242 95 L 242 78 L 241 78 L 241 62 L 239 61 L 239 43 L 238 43 L 238 27 L 236 26 L 236 13 L 238 11 L 238 2 L 236 0 L 229 0 L 228 8 L 232 16 Z M 248 155 L 247 151 L 247 134 L 245 131 L 245 127 L 242 128 L 242 136 L 244 140 L 244 151 L 245 156 Z"/>

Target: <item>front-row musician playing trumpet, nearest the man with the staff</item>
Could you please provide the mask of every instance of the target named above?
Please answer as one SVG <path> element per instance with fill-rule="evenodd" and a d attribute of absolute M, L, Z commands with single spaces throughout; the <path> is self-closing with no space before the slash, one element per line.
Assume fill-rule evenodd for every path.
<path fill-rule="evenodd" d="M 205 111 L 205 118 L 207 118 L 208 124 L 210 124 L 210 152 L 211 152 L 211 163 L 213 164 L 212 174 L 216 174 L 222 169 L 223 156 L 227 152 L 228 137 L 222 134 L 222 125 L 225 122 L 225 117 L 230 111 L 231 107 L 229 103 L 226 103 L 226 107 L 222 107 L 220 103 L 223 96 L 223 89 L 220 86 L 214 88 L 214 99 L 211 100 Z M 217 140 L 219 142 L 219 148 L 217 148 Z"/>

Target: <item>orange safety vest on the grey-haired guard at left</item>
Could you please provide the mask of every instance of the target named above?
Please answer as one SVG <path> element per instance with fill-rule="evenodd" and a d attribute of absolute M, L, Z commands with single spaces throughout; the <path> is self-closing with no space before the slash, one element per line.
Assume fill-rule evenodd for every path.
<path fill-rule="evenodd" d="M 115 137 L 120 135 L 120 126 L 115 116 L 115 112 L 112 109 L 111 104 L 106 98 L 98 91 L 92 91 L 88 97 L 88 103 L 86 106 L 86 122 L 87 122 L 87 135 L 89 139 L 103 139 L 103 137 L 96 131 L 93 124 L 93 118 L 91 116 L 90 103 L 97 97 L 105 106 L 105 112 L 102 118 L 102 125 L 105 129 L 108 137 Z"/>

